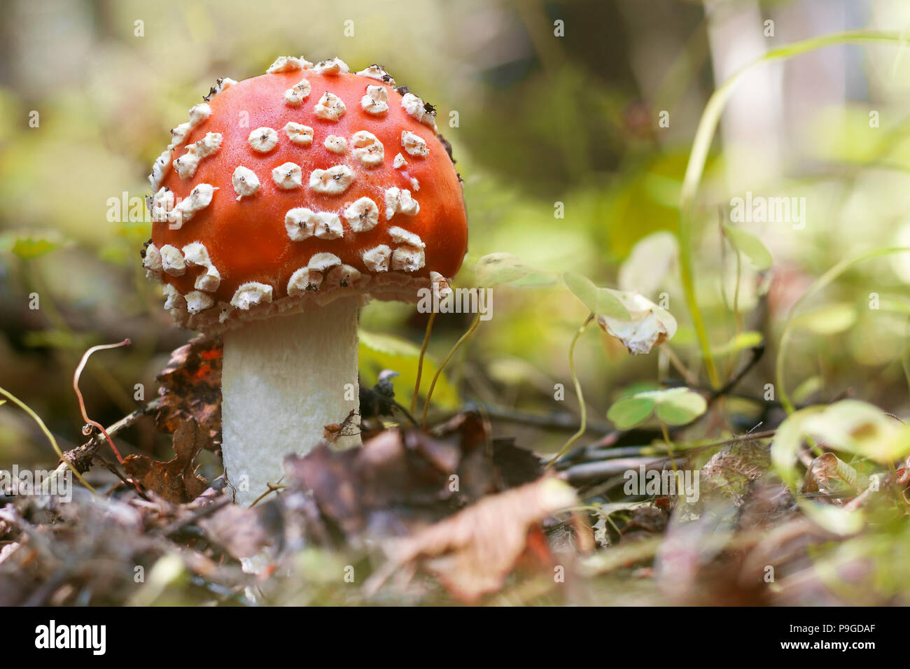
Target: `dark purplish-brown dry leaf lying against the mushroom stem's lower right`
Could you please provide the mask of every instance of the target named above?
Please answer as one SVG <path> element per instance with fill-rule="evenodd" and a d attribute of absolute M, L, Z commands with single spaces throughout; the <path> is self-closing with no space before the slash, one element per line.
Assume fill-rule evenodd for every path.
<path fill-rule="evenodd" d="M 388 430 L 357 449 L 319 446 L 285 461 L 286 481 L 305 491 L 349 539 L 406 535 L 481 497 L 541 475 L 540 461 L 509 441 L 488 447 L 484 421 L 463 413 L 428 434 Z"/>

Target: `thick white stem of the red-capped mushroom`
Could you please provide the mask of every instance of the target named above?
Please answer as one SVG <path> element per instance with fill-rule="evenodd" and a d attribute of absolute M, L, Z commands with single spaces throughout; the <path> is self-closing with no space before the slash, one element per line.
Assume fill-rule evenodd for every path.
<path fill-rule="evenodd" d="M 256 501 L 284 475 L 286 455 L 312 450 L 326 425 L 359 409 L 357 309 L 341 298 L 225 333 L 222 454 L 235 502 Z M 338 444 L 352 441 L 359 435 Z"/>

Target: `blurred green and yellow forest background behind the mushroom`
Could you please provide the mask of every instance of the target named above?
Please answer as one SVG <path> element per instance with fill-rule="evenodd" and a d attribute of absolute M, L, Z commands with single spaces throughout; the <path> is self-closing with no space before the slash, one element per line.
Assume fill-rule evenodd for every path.
<path fill-rule="evenodd" d="M 678 376 L 671 353 L 699 377 L 672 234 L 695 129 L 715 86 L 795 40 L 910 25 L 910 5 L 900 0 L 4 0 L 3 7 L 0 385 L 32 406 L 64 448 L 82 441 L 72 374 L 88 346 L 133 341 L 96 355 L 81 383 L 89 414 L 110 424 L 142 403 L 136 384 L 145 400 L 155 396 L 168 352 L 191 336 L 173 325 L 140 268 L 150 236 L 143 200 L 168 128 L 218 76 L 258 75 L 280 55 L 339 56 L 356 69 L 383 64 L 437 106 L 469 208 L 470 250 L 457 286 L 473 285 L 478 258 L 506 251 L 545 272 L 576 271 L 655 301 L 665 293 L 680 329 L 661 353 L 632 357 L 599 329 L 582 338 L 576 360 L 596 429 L 622 393 Z M 865 248 L 910 245 L 908 93 L 903 47 L 833 46 L 756 68 L 733 95 L 696 202 L 694 268 L 721 369 L 733 370 L 742 354 L 737 327 L 766 343 L 744 394 L 761 396 L 773 382 L 781 322 L 814 278 Z M 771 249 L 774 266 L 741 268 L 734 314 L 736 263 L 718 223 L 745 191 L 805 198 L 806 220 L 803 229 L 743 225 Z M 119 211 L 112 198 L 126 198 L 126 211 L 112 214 Z M 852 394 L 897 414 L 910 409 L 910 261 L 895 258 L 858 266 L 813 300 L 827 310 L 794 340 L 787 369 L 796 400 Z M 881 309 L 869 309 L 871 293 Z M 33 294 L 39 309 L 30 309 Z M 493 318 L 454 360 L 440 406 L 486 403 L 515 415 L 496 423 L 498 433 L 553 450 L 565 431 L 523 424 L 521 415 L 577 415 L 567 349 L 586 313 L 559 283 L 498 287 Z M 378 336 L 372 350 L 361 349 L 365 377 L 391 366 L 406 379 L 425 322 L 404 305 L 364 309 L 362 328 Z M 470 315 L 440 316 L 435 360 L 469 322 Z M 554 400 L 557 383 L 566 387 L 564 401 Z M 409 403 L 410 388 L 397 390 Z M 742 413 L 747 425 L 749 411 L 732 403 L 730 415 Z M 159 439 L 145 426 L 120 441 L 127 452 L 157 443 L 165 454 Z M 0 463 L 53 461 L 34 422 L 9 405 L 0 409 Z"/>

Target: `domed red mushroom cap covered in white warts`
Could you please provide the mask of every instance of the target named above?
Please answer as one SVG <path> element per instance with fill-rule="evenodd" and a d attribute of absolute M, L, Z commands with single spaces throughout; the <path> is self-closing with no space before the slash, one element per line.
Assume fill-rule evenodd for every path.
<path fill-rule="evenodd" d="M 337 297 L 417 299 L 468 226 L 434 113 L 379 66 L 281 57 L 219 79 L 149 177 L 149 273 L 178 321 L 217 331 Z M 173 167 L 172 167 L 173 166 Z"/>

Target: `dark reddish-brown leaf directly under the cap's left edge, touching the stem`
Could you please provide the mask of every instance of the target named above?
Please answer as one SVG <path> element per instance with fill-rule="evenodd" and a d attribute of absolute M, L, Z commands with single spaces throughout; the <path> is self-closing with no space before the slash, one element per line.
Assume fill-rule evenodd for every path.
<path fill-rule="evenodd" d="M 161 402 L 155 421 L 159 430 L 173 432 L 194 419 L 207 431 L 207 447 L 221 442 L 223 357 L 221 338 L 202 335 L 171 353 L 167 367 L 157 375 Z"/>

